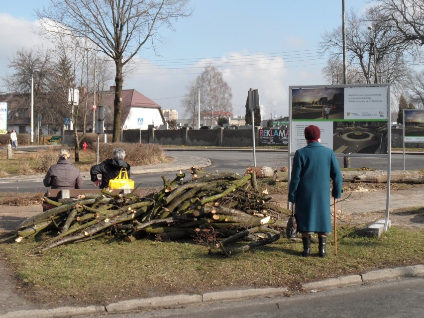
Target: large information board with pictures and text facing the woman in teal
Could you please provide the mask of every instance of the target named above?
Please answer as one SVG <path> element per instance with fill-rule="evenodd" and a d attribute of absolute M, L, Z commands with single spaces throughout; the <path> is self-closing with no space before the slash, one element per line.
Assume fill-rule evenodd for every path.
<path fill-rule="evenodd" d="M 336 154 L 387 154 L 389 87 L 290 87 L 291 152 L 306 146 L 303 132 L 313 124 Z"/>

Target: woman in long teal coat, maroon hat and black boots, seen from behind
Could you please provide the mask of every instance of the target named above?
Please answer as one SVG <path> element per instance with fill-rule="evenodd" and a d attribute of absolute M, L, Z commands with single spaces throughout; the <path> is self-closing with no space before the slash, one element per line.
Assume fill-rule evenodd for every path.
<path fill-rule="evenodd" d="M 296 151 L 289 185 L 289 201 L 296 204 L 298 232 L 302 233 L 303 253 L 311 252 L 311 234 L 318 233 L 319 256 L 325 256 L 326 236 L 331 232 L 331 196 L 341 198 L 343 176 L 332 149 L 319 143 L 317 126 L 305 128 L 308 145 Z"/>

